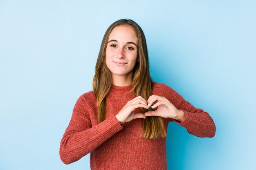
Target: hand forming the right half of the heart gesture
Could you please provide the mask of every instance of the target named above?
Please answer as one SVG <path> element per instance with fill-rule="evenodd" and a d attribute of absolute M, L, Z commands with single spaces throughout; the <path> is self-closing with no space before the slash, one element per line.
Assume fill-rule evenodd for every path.
<path fill-rule="evenodd" d="M 151 108 L 157 108 L 155 111 L 148 111 L 144 113 L 145 116 L 161 116 L 165 118 L 177 119 L 182 116 L 181 110 L 178 110 L 168 99 L 158 95 L 151 95 L 148 98 L 148 106 L 150 107 L 153 102 L 157 102 Z M 183 113 L 184 114 L 184 113 Z M 184 115 L 183 115 L 184 116 Z"/>

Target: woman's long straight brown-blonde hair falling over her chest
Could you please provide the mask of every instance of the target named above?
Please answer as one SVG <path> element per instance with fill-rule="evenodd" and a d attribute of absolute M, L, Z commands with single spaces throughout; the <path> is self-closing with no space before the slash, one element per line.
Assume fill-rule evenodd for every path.
<path fill-rule="evenodd" d="M 116 26 L 119 25 L 130 25 L 133 27 L 137 38 L 138 38 L 138 56 L 139 62 L 136 62 L 136 65 L 133 69 L 132 74 L 132 90 L 130 92 L 134 92 L 135 96 L 141 96 L 145 100 L 148 100 L 148 97 L 152 95 L 153 88 L 153 80 L 150 77 L 149 73 L 149 63 L 148 63 L 148 49 L 146 44 L 146 38 L 144 32 L 141 27 L 130 19 L 121 19 L 112 23 L 101 42 L 101 48 L 99 51 L 97 63 L 95 66 L 95 75 L 93 77 L 93 91 L 94 95 L 97 99 L 98 104 L 98 123 L 105 120 L 106 117 L 106 96 L 110 91 L 110 87 L 112 85 L 112 77 L 111 72 L 106 65 L 106 48 L 108 44 L 109 35 Z M 143 76 L 141 76 L 143 75 Z M 147 111 L 156 110 L 149 108 L 146 110 L 145 108 L 140 108 L 142 113 Z M 144 119 L 143 130 L 141 133 L 141 137 L 146 139 L 156 139 L 162 135 L 162 137 L 166 137 L 166 130 L 164 128 L 164 120 L 159 116 L 148 116 Z"/>

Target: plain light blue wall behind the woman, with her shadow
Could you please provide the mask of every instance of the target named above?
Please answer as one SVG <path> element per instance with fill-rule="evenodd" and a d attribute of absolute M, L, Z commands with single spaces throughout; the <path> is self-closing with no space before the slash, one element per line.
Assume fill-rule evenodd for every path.
<path fill-rule="evenodd" d="M 213 138 L 171 122 L 168 170 L 256 169 L 256 1 L 0 0 L 0 169 L 85 170 L 59 146 L 92 90 L 103 35 L 130 18 L 144 30 L 154 81 L 216 124 Z"/>

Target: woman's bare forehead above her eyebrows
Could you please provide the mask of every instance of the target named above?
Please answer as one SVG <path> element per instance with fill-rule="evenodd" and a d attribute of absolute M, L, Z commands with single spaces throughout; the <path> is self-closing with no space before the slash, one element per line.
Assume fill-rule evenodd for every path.
<path fill-rule="evenodd" d="M 119 25 L 112 29 L 108 40 L 117 40 L 119 41 L 134 41 L 137 42 L 137 35 L 130 25 Z"/>

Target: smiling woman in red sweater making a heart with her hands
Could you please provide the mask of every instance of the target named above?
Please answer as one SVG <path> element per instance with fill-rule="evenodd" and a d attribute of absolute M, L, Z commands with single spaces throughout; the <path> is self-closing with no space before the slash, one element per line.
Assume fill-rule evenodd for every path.
<path fill-rule="evenodd" d="M 93 91 L 81 95 L 74 106 L 61 139 L 61 160 L 69 164 L 90 153 L 92 170 L 166 170 L 170 121 L 198 137 L 214 137 L 216 132 L 207 112 L 166 84 L 152 81 L 141 27 L 118 20 L 103 37 Z"/>

